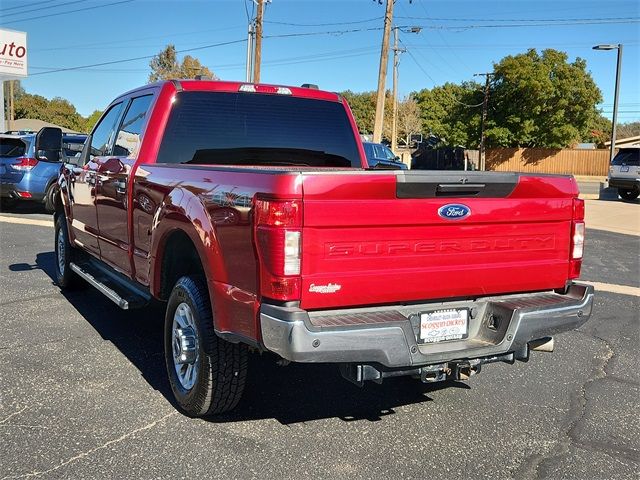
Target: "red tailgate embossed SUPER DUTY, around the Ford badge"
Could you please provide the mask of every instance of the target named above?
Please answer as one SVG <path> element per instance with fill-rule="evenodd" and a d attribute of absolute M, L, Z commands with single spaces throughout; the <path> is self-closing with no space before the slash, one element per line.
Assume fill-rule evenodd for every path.
<path fill-rule="evenodd" d="M 547 290 L 568 279 L 572 177 L 359 171 L 302 182 L 302 308 Z M 470 213 L 441 216 L 451 204 Z"/>

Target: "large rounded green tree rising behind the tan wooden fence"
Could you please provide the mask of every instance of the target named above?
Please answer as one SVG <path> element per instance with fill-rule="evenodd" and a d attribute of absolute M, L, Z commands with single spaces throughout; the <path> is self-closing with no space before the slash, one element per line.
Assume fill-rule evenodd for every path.
<path fill-rule="evenodd" d="M 588 138 L 597 126 L 602 94 L 586 62 L 535 49 L 494 64 L 487 144 L 564 148 Z"/>

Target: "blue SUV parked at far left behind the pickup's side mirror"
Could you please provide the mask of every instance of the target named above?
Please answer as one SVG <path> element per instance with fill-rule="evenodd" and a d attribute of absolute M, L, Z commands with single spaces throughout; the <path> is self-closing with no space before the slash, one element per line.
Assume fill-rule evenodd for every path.
<path fill-rule="evenodd" d="M 86 135 L 64 135 L 62 150 L 36 150 L 36 137 L 35 133 L 0 134 L 2 206 L 10 207 L 18 201 L 42 202 L 53 211 L 60 165 L 81 152 L 86 139 Z"/>

